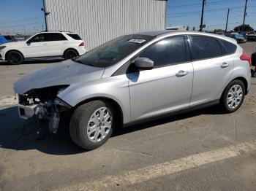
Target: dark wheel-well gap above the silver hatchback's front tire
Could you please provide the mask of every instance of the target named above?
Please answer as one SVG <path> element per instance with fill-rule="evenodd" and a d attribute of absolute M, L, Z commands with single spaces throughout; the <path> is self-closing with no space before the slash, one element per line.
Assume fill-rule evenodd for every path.
<path fill-rule="evenodd" d="M 105 98 L 105 97 L 89 98 L 89 99 L 86 99 L 85 101 L 81 101 L 79 104 L 77 104 L 75 106 L 75 108 L 77 108 L 78 106 L 80 106 L 82 104 L 86 104 L 89 101 L 95 101 L 95 100 L 108 101 L 108 103 L 113 104 L 115 111 L 116 111 L 116 119 L 117 119 L 116 128 L 120 128 L 124 125 L 124 117 L 123 117 L 123 111 L 121 109 L 121 106 L 119 106 L 119 104 L 111 98 Z"/>

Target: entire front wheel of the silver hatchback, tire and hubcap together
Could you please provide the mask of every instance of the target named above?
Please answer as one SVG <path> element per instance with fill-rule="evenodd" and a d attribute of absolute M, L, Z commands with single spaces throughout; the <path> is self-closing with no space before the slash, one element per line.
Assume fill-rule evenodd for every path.
<path fill-rule="evenodd" d="M 104 115 L 100 115 L 99 112 L 104 113 L 105 116 L 108 112 L 109 117 L 104 117 L 103 120 Z M 116 117 L 111 104 L 107 101 L 90 101 L 78 106 L 73 112 L 69 133 L 72 141 L 83 149 L 96 149 L 108 141 L 113 133 L 115 121 Z"/>

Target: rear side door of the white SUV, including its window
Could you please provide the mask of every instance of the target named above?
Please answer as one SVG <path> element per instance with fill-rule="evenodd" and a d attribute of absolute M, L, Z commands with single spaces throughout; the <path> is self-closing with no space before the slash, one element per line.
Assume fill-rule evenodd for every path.
<path fill-rule="evenodd" d="M 62 56 L 67 49 L 68 40 L 61 33 L 50 33 L 48 42 L 49 56 Z"/>

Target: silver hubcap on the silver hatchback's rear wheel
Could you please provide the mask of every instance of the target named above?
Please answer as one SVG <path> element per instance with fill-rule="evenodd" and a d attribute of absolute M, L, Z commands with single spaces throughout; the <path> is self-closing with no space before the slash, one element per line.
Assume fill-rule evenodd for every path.
<path fill-rule="evenodd" d="M 243 98 L 243 89 L 240 85 L 233 85 L 227 93 L 227 105 L 235 109 Z"/>

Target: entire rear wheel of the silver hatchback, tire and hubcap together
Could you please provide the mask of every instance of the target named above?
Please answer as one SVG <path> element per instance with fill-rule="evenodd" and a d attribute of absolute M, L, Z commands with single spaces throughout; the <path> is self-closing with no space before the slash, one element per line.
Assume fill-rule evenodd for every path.
<path fill-rule="evenodd" d="M 244 101 L 244 83 L 238 79 L 230 82 L 222 93 L 220 106 L 225 113 L 236 112 Z M 227 100 L 228 99 L 228 100 Z"/>

